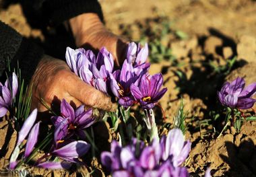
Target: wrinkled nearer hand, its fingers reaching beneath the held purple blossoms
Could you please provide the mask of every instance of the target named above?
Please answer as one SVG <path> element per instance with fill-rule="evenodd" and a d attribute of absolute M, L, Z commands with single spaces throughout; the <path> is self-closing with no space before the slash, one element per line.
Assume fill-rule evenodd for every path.
<path fill-rule="evenodd" d="M 92 108 L 114 111 L 116 106 L 106 94 L 84 83 L 75 73 L 72 73 L 67 64 L 59 59 L 49 56 L 38 64 L 36 72 L 30 83 L 32 85 L 32 109 L 44 112 L 47 109 L 40 102 L 40 98 L 49 107 L 55 101 L 63 98 L 74 106 L 85 104 Z"/>

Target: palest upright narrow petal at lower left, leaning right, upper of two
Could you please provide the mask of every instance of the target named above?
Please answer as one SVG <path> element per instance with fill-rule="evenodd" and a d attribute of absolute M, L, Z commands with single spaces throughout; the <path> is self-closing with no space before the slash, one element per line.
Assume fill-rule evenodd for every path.
<path fill-rule="evenodd" d="M 20 145 L 20 143 L 24 141 L 24 139 L 30 132 L 30 129 L 32 128 L 32 126 L 34 125 L 34 122 L 36 121 L 36 115 L 37 115 L 37 109 L 34 109 L 31 112 L 31 114 L 28 116 L 28 118 L 26 118 L 24 124 L 22 125 L 22 129 L 20 129 L 17 145 Z"/>

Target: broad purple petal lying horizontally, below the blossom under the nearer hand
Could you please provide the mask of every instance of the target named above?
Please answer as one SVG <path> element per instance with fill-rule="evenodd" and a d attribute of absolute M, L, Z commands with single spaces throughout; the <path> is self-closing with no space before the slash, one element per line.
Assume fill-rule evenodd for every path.
<path fill-rule="evenodd" d="M 64 158 L 77 158 L 87 153 L 90 149 L 90 144 L 86 141 L 73 141 L 52 152 L 53 155 Z"/>

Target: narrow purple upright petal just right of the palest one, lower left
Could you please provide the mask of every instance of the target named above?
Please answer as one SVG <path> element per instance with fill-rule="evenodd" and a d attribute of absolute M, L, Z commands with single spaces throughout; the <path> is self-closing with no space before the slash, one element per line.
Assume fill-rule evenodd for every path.
<path fill-rule="evenodd" d="M 38 140 L 38 135 L 39 135 L 39 125 L 40 122 L 36 123 L 32 130 L 30 131 L 30 135 L 28 135 L 28 141 L 26 143 L 26 149 L 24 153 L 24 157 L 28 158 L 30 153 L 32 152 L 34 145 L 36 145 L 36 142 Z"/>

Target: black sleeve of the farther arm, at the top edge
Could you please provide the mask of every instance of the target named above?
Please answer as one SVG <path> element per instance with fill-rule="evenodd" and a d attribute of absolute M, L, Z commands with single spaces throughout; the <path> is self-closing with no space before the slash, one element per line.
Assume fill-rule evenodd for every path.
<path fill-rule="evenodd" d="M 36 26 L 57 26 L 82 13 L 97 13 L 103 22 L 102 9 L 97 0 L 23 0 L 27 19 Z"/>

